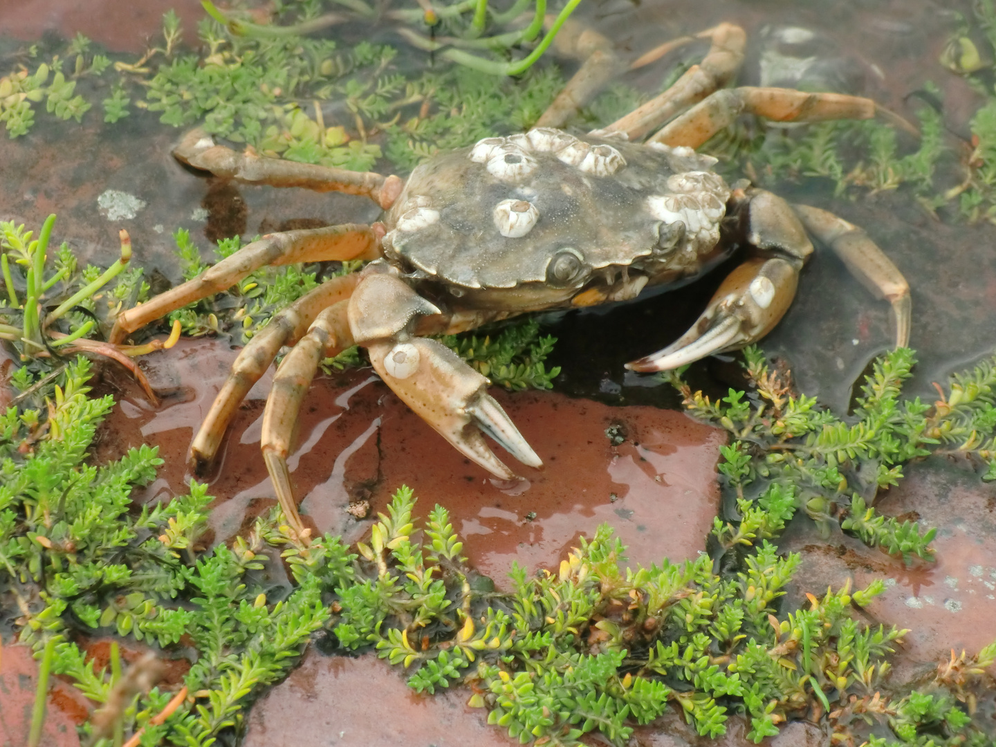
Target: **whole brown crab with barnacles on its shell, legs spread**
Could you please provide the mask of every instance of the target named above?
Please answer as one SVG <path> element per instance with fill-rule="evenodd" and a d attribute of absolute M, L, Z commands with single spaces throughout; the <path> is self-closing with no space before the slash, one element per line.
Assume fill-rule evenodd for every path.
<path fill-rule="evenodd" d="M 293 346 L 274 376 L 262 451 L 290 525 L 304 532 L 287 466 L 294 421 L 319 362 L 359 344 L 384 382 L 445 440 L 495 477 L 514 479 L 483 434 L 525 465 L 540 467 L 540 458 L 488 393 L 488 379 L 433 336 L 528 312 L 626 301 L 646 288 L 684 284 L 739 250 L 743 261 L 691 329 L 626 364 L 636 372 L 674 369 L 766 335 L 789 308 L 814 251 L 809 235 L 891 304 L 895 345 L 905 345 L 908 286 L 862 229 L 749 182 L 727 184 L 711 170 L 715 159 L 694 150 L 741 112 L 781 122 L 865 119 L 876 114 L 875 104 L 787 89 L 721 89 L 742 60 L 744 32 L 722 24 L 700 36 L 711 41 L 700 65 L 605 129 L 576 135 L 556 127 L 598 88 L 591 70 L 602 69 L 605 55 L 595 44 L 538 126 L 436 155 L 407 180 L 240 153 L 190 132 L 174 155 L 197 169 L 251 184 L 365 195 L 384 210 L 373 225 L 269 234 L 120 315 L 112 343 L 265 264 L 371 260 L 284 309 L 242 350 L 191 443 L 195 469 L 212 461 L 243 397 L 281 349 Z"/>

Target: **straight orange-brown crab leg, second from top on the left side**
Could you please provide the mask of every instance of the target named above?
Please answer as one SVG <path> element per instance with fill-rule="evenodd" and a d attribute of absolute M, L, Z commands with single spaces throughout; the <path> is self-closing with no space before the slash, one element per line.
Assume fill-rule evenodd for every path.
<path fill-rule="evenodd" d="M 149 322 L 230 288 L 264 265 L 375 259 L 380 256 L 379 246 L 373 229 L 359 223 L 268 234 L 246 244 L 193 280 L 123 312 L 111 331 L 110 342 L 122 343 L 129 333 Z"/>

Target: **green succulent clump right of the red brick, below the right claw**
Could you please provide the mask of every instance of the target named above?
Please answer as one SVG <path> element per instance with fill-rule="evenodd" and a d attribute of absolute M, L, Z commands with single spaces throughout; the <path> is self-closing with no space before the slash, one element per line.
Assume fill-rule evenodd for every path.
<path fill-rule="evenodd" d="M 726 428 L 734 439 L 720 448 L 718 469 L 736 491 L 737 515 L 715 520 L 718 554 L 777 537 L 802 508 L 824 534 L 839 523 L 907 562 L 912 556 L 930 560 L 936 530 L 879 516 L 873 508 L 878 490 L 902 477 L 903 463 L 930 453 L 935 432 L 962 432 L 948 427 L 951 417 L 935 423 L 930 405 L 918 397 L 900 398 L 912 366 L 906 348 L 876 361 L 847 420 L 820 407 L 815 397 L 796 396 L 788 373 L 772 371 L 754 346 L 744 349 L 749 393 L 731 388 L 712 401 L 692 391 L 679 373 L 666 374 L 692 415 Z"/>

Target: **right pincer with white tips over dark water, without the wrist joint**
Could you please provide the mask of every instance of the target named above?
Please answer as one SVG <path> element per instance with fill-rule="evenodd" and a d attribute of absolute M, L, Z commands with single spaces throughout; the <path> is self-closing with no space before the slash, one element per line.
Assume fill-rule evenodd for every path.
<path fill-rule="evenodd" d="M 727 276 L 688 332 L 625 368 L 640 373 L 670 371 L 760 340 L 788 310 L 798 280 L 799 270 L 785 259 L 748 260 Z"/>

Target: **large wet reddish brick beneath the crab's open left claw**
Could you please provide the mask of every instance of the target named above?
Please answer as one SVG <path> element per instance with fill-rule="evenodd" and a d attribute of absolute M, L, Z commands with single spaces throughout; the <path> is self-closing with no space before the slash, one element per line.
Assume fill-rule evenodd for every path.
<path fill-rule="evenodd" d="M 219 341 L 183 340 L 144 366 L 162 394 L 151 407 L 122 381 L 120 406 L 104 426 L 98 457 L 144 441 L 165 460 L 145 500 L 186 491 L 184 466 L 194 428 L 207 412 L 237 351 Z M 116 378 L 116 380 L 118 380 Z M 267 373 L 236 413 L 217 469 L 208 476 L 218 497 L 211 524 L 216 540 L 236 534 L 274 503 L 259 458 Z M 402 484 L 420 497 L 418 510 L 445 506 L 464 539 L 464 553 L 501 585 L 513 560 L 529 571 L 556 566 L 609 522 L 628 546 L 631 563 L 694 558 L 718 508 L 715 463 L 725 434 L 680 412 L 648 406 L 610 407 L 556 392 L 492 393 L 545 468 L 515 464 L 525 479 L 490 478 L 413 414 L 370 370 L 319 377 L 298 419 L 289 461 L 306 522 L 355 542 L 369 531 L 351 503 L 383 511 Z M 606 429 L 616 426 L 615 443 Z M 512 463 L 511 461 L 509 462 Z"/>

